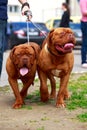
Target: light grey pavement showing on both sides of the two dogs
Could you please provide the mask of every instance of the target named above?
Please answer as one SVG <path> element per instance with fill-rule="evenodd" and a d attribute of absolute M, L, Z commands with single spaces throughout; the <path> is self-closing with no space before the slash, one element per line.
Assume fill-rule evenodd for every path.
<path fill-rule="evenodd" d="M 2 70 L 2 75 L 1 75 L 0 86 L 4 86 L 4 85 L 9 84 L 8 80 L 7 80 L 8 78 L 7 78 L 6 69 L 5 69 L 6 60 L 7 60 L 8 55 L 9 55 L 9 51 L 4 53 L 3 70 Z M 75 63 L 74 63 L 74 68 L 73 68 L 72 72 L 74 72 L 74 73 L 87 72 L 87 69 L 84 69 L 84 68 L 81 67 L 81 54 L 80 54 L 80 51 L 75 50 L 74 51 L 74 57 L 75 57 Z"/>

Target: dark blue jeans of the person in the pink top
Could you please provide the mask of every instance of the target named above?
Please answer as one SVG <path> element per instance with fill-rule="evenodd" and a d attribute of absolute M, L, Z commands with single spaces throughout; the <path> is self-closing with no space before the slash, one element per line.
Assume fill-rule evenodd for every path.
<path fill-rule="evenodd" d="M 81 48 L 81 59 L 82 64 L 87 61 L 87 22 L 81 22 L 81 30 L 82 30 L 82 48 Z"/>

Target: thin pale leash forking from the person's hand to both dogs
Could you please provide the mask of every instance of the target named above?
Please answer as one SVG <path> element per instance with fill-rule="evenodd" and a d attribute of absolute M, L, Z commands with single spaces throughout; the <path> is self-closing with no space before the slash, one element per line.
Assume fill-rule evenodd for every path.
<path fill-rule="evenodd" d="M 35 23 L 33 23 L 30 19 L 29 19 L 29 16 L 32 17 L 32 12 L 29 10 L 29 11 L 25 11 L 24 15 L 26 15 L 27 17 L 27 42 L 29 44 L 29 22 L 31 22 L 45 37 L 47 37 L 47 35 L 41 31 L 40 27 L 37 26 Z"/>

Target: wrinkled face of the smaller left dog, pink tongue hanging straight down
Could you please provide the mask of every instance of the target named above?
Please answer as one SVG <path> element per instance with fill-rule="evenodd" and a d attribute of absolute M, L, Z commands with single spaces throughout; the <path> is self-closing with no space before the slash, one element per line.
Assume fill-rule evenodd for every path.
<path fill-rule="evenodd" d="M 35 60 L 35 51 L 29 45 L 19 45 L 13 48 L 10 58 L 20 75 L 24 76 L 31 71 Z"/>

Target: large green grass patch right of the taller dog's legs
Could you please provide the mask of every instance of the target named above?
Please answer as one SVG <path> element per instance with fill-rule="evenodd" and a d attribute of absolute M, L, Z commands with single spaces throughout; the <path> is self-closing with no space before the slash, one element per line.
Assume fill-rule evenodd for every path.
<path fill-rule="evenodd" d="M 71 91 L 71 98 L 67 101 L 67 108 L 69 110 L 77 108 L 87 108 L 87 74 L 83 74 L 76 80 L 70 80 L 69 90 Z"/>

